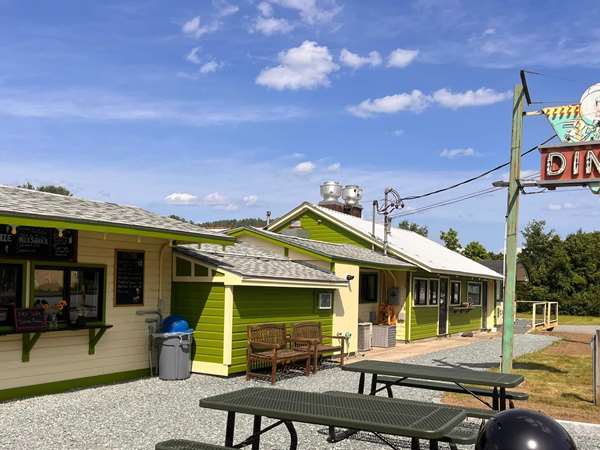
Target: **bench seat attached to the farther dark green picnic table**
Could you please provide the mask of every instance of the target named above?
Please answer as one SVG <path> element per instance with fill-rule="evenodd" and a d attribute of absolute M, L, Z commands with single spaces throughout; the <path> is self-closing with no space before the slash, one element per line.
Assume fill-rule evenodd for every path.
<path fill-rule="evenodd" d="M 495 389 L 475 386 L 464 386 L 464 388 L 462 388 L 454 383 L 446 383 L 443 381 L 417 380 L 412 378 L 401 379 L 385 375 L 377 377 L 377 383 L 385 385 L 388 397 L 390 398 L 393 398 L 394 396 L 392 393 L 392 386 L 403 386 L 418 389 L 429 389 L 431 391 L 456 392 L 459 394 L 471 393 L 475 396 L 492 397 L 494 399 L 494 409 L 498 409 L 498 405 L 496 404 L 498 392 Z M 527 400 L 528 398 L 529 395 L 525 392 L 506 391 L 506 399 L 509 401 L 511 408 L 515 407 L 514 401 L 523 401 Z"/>

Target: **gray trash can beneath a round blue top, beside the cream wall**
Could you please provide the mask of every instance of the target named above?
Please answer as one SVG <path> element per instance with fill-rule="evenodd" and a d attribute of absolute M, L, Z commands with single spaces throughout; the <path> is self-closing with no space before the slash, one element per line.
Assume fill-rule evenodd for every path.
<path fill-rule="evenodd" d="M 154 333 L 158 350 L 158 377 L 161 380 L 185 380 L 192 372 L 193 330 Z"/>

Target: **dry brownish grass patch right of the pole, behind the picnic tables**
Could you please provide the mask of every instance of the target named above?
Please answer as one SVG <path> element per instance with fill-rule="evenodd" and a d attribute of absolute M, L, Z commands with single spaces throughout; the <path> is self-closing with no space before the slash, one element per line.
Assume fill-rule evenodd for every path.
<path fill-rule="evenodd" d="M 594 406 L 592 399 L 591 336 L 550 334 L 561 340 L 514 362 L 514 372 L 525 377 L 525 383 L 517 389 L 529 393 L 529 400 L 516 406 L 556 419 L 600 423 L 600 407 Z M 477 400 L 460 394 L 446 394 L 444 402 L 481 407 Z"/>

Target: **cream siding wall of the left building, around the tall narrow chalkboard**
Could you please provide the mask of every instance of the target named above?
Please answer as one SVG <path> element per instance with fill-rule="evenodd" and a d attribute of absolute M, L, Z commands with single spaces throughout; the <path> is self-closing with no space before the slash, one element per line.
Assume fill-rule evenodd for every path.
<path fill-rule="evenodd" d="M 162 286 L 159 295 L 159 255 L 162 260 Z M 145 252 L 144 306 L 113 306 L 115 249 Z M 30 361 L 21 362 L 21 335 L 0 337 L 0 390 L 83 378 L 148 367 L 147 331 L 140 309 L 156 309 L 159 298 L 165 314 L 171 298 L 171 249 L 168 241 L 134 236 L 80 232 L 78 262 L 105 265 L 105 318 L 114 325 L 88 355 L 88 332 L 43 333 L 31 351 Z"/>

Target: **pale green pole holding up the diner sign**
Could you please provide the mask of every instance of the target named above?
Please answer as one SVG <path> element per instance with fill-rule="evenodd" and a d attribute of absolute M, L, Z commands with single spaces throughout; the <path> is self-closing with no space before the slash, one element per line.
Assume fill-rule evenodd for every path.
<path fill-rule="evenodd" d="M 512 372 L 514 309 L 517 285 L 517 241 L 519 233 L 519 177 L 521 174 L 521 139 L 523 132 L 524 88 L 515 86 L 513 95 L 510 175 L 506 209 L 506 255 L 504 268 L 504 314 L 502 326 L 502 365 L 504 373 Z"/>

